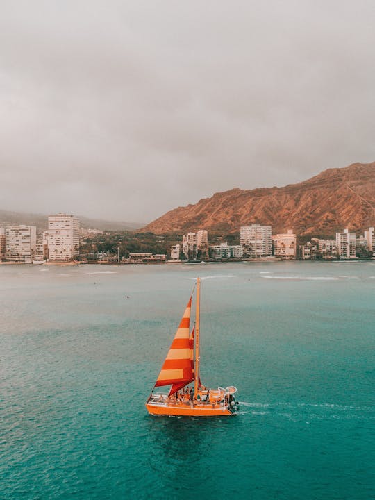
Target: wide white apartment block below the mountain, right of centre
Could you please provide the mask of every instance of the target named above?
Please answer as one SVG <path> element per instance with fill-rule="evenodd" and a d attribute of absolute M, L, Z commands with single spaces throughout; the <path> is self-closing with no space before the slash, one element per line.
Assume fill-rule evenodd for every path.
<path fill-rule="evenodd" d="M 272 227 L 251 224 L 240 228 L 240 244 L 244 255 L 251 258 L 272 256 Z"/>

